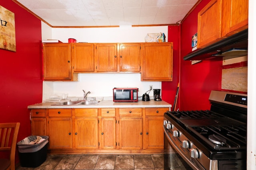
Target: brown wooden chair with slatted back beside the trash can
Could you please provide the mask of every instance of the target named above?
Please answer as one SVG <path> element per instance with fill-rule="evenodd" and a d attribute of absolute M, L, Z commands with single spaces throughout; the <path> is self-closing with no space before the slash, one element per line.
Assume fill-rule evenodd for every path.
<path fill-rule="evenodd" d="M 0 170 L 15 170 L 15 150 L 20 123 L 0 123 L 0 151 L 10 155 L 0 158 Z"/>

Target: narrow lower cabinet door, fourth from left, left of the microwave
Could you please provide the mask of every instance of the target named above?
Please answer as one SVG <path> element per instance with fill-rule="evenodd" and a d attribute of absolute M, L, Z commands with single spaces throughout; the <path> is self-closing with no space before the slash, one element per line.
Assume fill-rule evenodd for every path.
<path fill-rule="evenodd" d="M 116 118 L 102 117 L 100 127 L 100 148 L 116 149 Z"/>

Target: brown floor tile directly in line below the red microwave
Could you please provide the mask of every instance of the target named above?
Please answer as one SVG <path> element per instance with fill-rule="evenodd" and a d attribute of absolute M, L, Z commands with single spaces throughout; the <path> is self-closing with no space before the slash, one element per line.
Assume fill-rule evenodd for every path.
<path fill-rule="evenodd" d="M 133 155 L 118 155 L 118 156 L 116 156 L 115 169 L 134 169 Z"/>

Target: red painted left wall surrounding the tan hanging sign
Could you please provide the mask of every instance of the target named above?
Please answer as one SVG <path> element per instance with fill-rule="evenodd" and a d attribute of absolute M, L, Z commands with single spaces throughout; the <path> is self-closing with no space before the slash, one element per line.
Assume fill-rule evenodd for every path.
<path fill-rule="evenodd" d="M 16 52 L 0 49 L 0 123 L 20 122 L 20 141 L 30 135 L 28 105 L 42 102 L 41 21 L 12 0 L 0 6 L 14 13 L 16 28 Z"/>

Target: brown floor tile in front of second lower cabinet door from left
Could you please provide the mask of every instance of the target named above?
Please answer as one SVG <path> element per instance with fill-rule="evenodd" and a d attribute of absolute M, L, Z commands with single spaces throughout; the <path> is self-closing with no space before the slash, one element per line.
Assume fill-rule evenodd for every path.
<path fill-rule="evenodd" d="M 54 170 L 70 170 L 74 169 L 77 162 L 80 160 L 81 156 L 68 155 L 64 156 L 62 160 L 58 163 Z"/>

